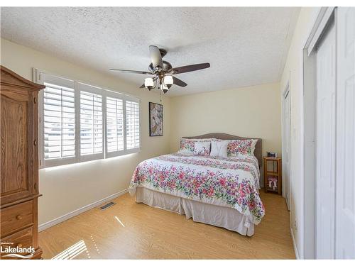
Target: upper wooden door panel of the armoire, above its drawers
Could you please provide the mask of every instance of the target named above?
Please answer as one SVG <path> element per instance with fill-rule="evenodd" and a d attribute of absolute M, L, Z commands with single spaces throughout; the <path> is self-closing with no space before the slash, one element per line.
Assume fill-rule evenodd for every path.
<path fill-rule="evenodd" d="M 1 85 L 1 205 L 35 193 L 33 99 L 37 92 Z"/>

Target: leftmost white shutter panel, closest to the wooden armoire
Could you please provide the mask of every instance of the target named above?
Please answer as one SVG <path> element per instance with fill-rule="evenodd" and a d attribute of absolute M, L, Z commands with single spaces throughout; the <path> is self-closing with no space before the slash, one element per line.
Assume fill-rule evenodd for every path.
<path fill-rule="evenodd" d="M 46 166 L 75 162 L 75 90 L 69 79 L 43 74 L 43 162 Z"/>

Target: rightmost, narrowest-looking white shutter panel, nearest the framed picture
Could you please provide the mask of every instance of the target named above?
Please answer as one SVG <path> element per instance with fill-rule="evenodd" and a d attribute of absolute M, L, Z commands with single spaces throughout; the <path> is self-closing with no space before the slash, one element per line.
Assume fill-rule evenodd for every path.
<path fill-rule="evenodd" d="M 139 148 L 140 145 L 139 102 L 126 101 L 126 148 Z"/>

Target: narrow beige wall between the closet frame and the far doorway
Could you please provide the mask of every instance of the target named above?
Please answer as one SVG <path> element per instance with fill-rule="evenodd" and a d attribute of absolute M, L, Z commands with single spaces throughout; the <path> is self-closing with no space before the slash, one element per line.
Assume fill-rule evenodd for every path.
<path fill-rule="evenodd" d="M 303 182 L 303 48 L 320 8 L 302 8 L 291 41 L 288 58 L 280 81 L 282 94 L 290 82 L 291 100 L 291 228 L 300 257 L 304 240 L 304 182 Z"/>

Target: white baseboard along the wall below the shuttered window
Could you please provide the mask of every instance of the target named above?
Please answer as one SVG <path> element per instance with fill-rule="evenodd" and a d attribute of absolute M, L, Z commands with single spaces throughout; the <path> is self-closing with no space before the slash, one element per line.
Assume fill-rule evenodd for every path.
<path fill-rule="evenodd" d="M 38 226 L 38 231 L 43 231 L 47 228 L 50 228 L 52 226 L 55 226 L 58 223 L 62 223 L 63 221 L 66 221 L 67 219 L 70 219 L 74 216 L 77 216 L 78 214 L 82 214 L 84 211 L 89 211 L 89 209 L 95 208 L 99 205 L 104 204 L 106 201 L 110 201 L 111 199 L 115 199 L 118 196 L 121 196 L 123 194 L 126 194 L 129 191 L 129 189 L 124 189 L 121 192 L 117 192 L 115 194 L 112 194 L 111 196 L 107 196 L 104 199 L 100 199 L 99 201 L 95 201 L 92 204 L 89 204 L 87 206 L 83 206 L 80 209 L 77 209 L 75 211 L 71 211 L 68 214 L 64 214 L 63 216 L 60 216 L 58 218 L 53 219 L 52 221 L 48 221 L 45 223 L 42 223 Z"/>

